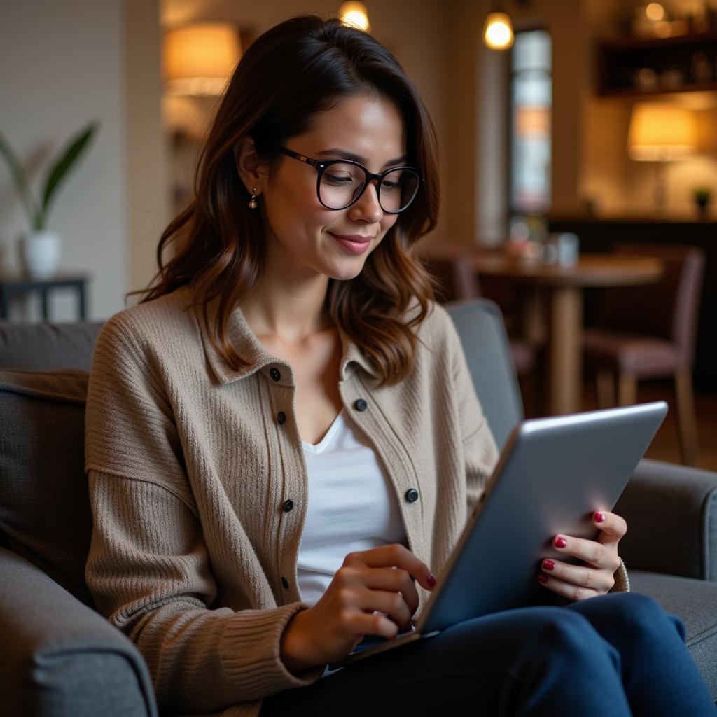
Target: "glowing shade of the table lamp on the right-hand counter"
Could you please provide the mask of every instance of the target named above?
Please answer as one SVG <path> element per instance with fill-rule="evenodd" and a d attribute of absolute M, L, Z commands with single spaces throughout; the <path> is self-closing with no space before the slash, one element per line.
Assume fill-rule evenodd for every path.
<path fill-rule="evenodd" d="M 697 148 L 697 125 L 691 110 L 652 102 L 632 108 L 627 151 L 637 161 L 673 161 Z"/>

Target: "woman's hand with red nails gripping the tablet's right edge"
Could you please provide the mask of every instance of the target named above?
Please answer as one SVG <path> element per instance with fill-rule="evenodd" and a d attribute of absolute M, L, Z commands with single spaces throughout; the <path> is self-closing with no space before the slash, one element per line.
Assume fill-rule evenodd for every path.
<path fill-rule="evenodd" d="M 617 543 L 627 533 L 625 519 L 599 511 L 593 513 L 592 522 L 601 533 L 597 540 L 585 540 L 559 535 L 553 547 L 565 555 L 579 558 L 585 565 L 545 559 L 541 563 L 538 580 L 549 590 L 571 600 L 604 595 L 614 586 L 614 571 L 620 566 Z"/>

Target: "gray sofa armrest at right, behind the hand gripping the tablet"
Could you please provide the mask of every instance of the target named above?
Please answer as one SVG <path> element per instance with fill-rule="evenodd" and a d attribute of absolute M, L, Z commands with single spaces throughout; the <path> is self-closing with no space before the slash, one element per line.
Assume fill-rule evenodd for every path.
<path fill-rule="evenodd" d="M 628 571 L 717 581 L 717 473 L 641 460 L 614 512 Z"/>

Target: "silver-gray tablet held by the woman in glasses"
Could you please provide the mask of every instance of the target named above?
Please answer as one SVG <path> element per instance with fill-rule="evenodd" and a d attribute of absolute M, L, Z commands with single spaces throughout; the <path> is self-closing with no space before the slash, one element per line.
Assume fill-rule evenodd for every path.
<path fill-rule="evenodd" d="M 594 539 L 667 414 L 664 401 L 519 424 L 410 632 L 374 636 L 329 670 L 437 635 L 463 620 L 554 602 L 536 580 L 558 533 Z"/>

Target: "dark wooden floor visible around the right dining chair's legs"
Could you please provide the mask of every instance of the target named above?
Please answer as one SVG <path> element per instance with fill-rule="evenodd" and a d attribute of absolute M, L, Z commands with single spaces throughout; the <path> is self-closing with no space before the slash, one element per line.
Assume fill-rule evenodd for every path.
<path fill-rule="evenodd" d="M 652 441 L 646 456 L 655 460 L 680 462 L 680 444 L 677 434 L 675 394 L 670 381 L 640 381 L 637 402 L 668 402 L 669 410 L 665 422 Z M 586 381 L 583 386 L 583 407 L 585 411 L 597 408 L 594 382 Z M 697 432 L 700 446 L 698 467 L 717 471 L 717 394 L 696 394 Z"/>

